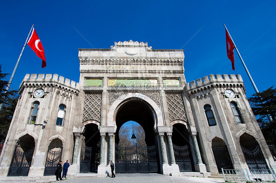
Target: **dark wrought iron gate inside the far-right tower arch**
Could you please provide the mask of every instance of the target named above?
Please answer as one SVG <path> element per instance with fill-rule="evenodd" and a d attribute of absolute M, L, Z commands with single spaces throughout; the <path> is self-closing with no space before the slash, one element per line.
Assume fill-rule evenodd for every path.
<path fill-rule="evenodd" d="M 269 169 L 259 145 L 252 151 L 241 147 L 250 170 Z"/>

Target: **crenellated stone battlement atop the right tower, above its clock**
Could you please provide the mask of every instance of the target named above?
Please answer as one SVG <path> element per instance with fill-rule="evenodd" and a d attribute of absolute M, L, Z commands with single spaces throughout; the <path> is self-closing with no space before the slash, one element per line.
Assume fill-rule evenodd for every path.
<path fill-rule="evenodd" d="M 191 92 L 195 89 L 208 87 L 210 85 L 213 85 L 213 87 L 217 85 L 223 87 L 244 87 L 244 81 L 240 74 L 216 74 L 215 76 L 214 74 L 210 74 L 209 77 L 204 76 L 202 79 L 199 78 L 196 81 L 187 83 L 186 87 L 187 90 Z"/>

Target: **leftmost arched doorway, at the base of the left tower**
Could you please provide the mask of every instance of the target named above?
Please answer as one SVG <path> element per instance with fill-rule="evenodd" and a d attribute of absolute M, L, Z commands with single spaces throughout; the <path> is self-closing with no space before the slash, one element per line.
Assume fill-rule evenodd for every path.
<path fill-rule="evenodd" d="M 34 151 L 34 138 L 26 134 L 16 143 L 8 176 L 28 176 Z"/>

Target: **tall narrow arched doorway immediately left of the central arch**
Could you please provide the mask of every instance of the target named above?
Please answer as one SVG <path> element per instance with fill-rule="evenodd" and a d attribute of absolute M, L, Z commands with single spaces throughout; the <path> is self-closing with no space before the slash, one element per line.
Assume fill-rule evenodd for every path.
<path fill-rule="evenodd" d="M 100 161 L 100 132 L 97 124 L 85 125 L 82 141 L 80 172 L 97 173 Z"/>

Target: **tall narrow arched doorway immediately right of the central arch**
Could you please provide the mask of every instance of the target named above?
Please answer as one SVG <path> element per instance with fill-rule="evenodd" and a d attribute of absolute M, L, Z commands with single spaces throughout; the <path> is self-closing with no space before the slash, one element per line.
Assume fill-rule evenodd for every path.
<path fill-rule="evenodd" d="M 181 172 L 191 172 L 193 156 L 190 146 L 190 135 L 184 124 L 176 123 L 172 126 L 172 144 L 176 164 Z"/>

